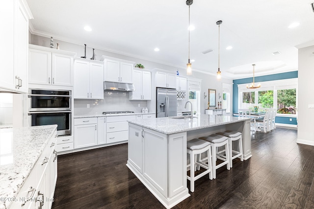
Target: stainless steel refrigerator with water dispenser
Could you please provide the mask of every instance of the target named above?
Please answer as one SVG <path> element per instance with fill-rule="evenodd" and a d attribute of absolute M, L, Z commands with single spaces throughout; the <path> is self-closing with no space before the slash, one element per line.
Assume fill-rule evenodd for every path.
<path fill-rule="evenodd" d="M 156 117 L 177 116 L 177 90 L 156 88 Z"/>

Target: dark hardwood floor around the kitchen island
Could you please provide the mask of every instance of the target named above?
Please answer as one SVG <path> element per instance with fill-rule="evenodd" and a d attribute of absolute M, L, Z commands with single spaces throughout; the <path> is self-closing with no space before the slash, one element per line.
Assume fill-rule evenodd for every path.
<path fill-rule="evenodd" d="M 297 130 L 253 132 L 248 160 L 195 182 L 195 192 L 173 209 L 314 208 L 314 147 L 296 144 Z M 53 209 L 163 209 L 127 168 L 128 145 L 58 157 Z M 189 187 L 189 182 L 187 183 Z"/>

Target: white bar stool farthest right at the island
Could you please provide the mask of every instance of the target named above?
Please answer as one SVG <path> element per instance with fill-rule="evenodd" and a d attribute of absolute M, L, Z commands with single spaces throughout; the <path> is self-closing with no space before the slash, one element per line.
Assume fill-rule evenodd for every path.
<path fill-rule="evenodd" d="M 228 137 L 229 140 L 229 156 L 230 156 L 230 167 L 232 168 L 232 160 L 240 157 L 240 160 L 243 161 L 243 148 L 242 148 L 242 133 L 238 131 L 224 131 L 224 132 L 219 132 L 216 133 L 218 135 L 223 135 Z M 239 151 L 236 151 L 232 147 L 232 142 L 233 141 L 238 141 L 239 145 Z M 235 156 L 233 156 L 233 153 Z"/>

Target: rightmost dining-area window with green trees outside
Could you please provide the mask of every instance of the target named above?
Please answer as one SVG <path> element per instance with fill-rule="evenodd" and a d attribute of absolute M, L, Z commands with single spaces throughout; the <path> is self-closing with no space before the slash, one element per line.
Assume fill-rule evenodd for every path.
<path fill-rule="evenodd" d="M 277 90 L 277 113 L 296 113 L 296 89 Z"/>

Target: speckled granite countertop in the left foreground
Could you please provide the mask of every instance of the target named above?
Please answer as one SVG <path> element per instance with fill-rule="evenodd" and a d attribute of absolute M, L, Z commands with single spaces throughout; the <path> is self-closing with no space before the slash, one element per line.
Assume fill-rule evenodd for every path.
<path fill-rule="evenodd" d="M 57 125 L 0 129 L 0 208 L 17 196 Z"/>

